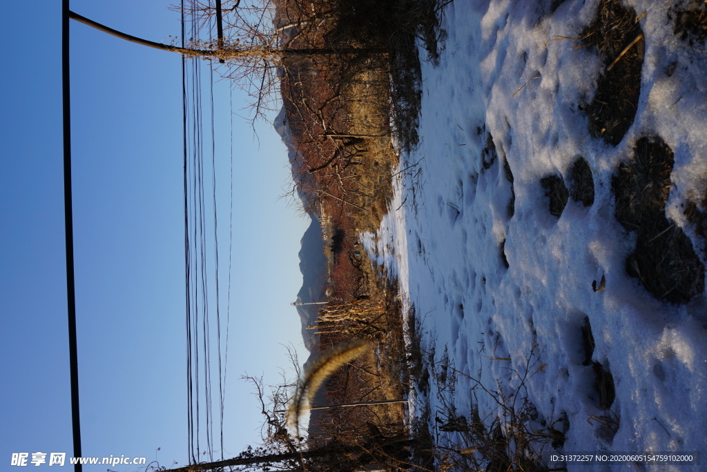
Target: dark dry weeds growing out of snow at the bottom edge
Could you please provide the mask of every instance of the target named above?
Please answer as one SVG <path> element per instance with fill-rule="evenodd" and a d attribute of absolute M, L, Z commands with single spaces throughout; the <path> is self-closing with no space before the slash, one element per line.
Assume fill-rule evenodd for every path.
<path fill-rule="evenodd" d="M 409 329 L 415 331 L 412 338 L 419 340 L 422 335 L 420 325 L 414 312 L 411 314 Z M 416 346 L 420 346 L 419 343 Z M 487 387 L 479 378 L 456 370 L 454 359 L 446 349 L 441 355 L 423 348 L 412 351 L 409 360 L 418 389 L 429 391 L 429 387 L 421 387 L 426 383 L 421 377 L 430 377 L 440 405 L 436 411 L 430 410 L 428 402 L 421 401 L 418 405 L 421 414 L 416 418 L 416 431 L 420 447 L 413 452 L 414 457 L 425 460 L 426 470 L 547 470 L 541 459 L 544 449 L 562 447 L 569 422 L 565 413 L 552 423 L 545 422 L 528 399 L 527 381 L 543 368 L 537 365 L 535 349 L 532 348 L 527 356 L 525 368 L 521 372 L 513 370 L 508 377 L 510 383 L 507 385 L 515 384 L 510 390 L 500 384 Z M 462 414 L 455 406 L 455 400 L 464 394 L 456 389 L 458 377 L 467 377 L 474 384 L 470 391 L 472 408 L 468 414 Z M 483 418 L 478 408 L 480 396 L 490 397 L 491 404 L 495 405 Z M 433 431 L 428 429 L 429 425 L 433 425 Z"/>

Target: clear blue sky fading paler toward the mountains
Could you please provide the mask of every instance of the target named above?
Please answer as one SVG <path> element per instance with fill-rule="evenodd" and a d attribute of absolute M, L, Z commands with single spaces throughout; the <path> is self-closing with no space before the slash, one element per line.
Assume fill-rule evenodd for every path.
<path fill-rule="evenodd" d="M 171 3 L 74 0 L 71 8 L 117 30 L 169 42 L 169 35 L 180 33 Z M 13 452 L 70 456 L 72 451 L 60 20 L 58 1 L 31 10 L 8 4 L 2 19 L 6 37 L 18 47 L 9 52 L 0 74 L 3 470 L 23 469 L 10 467 Z M 83 454 L 146 456 L 164 466 L 184 465 L 181 59 L 76 22 L 71 54 Z M 223 266 L 228 260 L 229 84 L 217 83 L 215 93 L 217 171 L 225 176 L 217 182 Z M 235 111 L 242 105 L 234 92 Z M 299 319 L 289 304 L 302 283 L 297 253 L 309 223 L 278 198 L 291 180 L 286 149 L 274 129 L 262 124 L 255 139 L 243 119 L 235 117 L 233 123 L 226 456 L 259 438 L 259 406 L 240 375 L 264 373 L 266 382 L 277 382 L 279 367 L 288 367 L 282 345 L 293 343 L 304 352 Z M 85 470 L 105 471 L 105 466 Z"/>

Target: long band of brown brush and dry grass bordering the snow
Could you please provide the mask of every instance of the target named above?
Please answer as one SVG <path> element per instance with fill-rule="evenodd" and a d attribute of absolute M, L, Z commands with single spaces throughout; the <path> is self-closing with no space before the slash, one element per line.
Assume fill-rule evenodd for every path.
<path fill-rule="evenodd" d="M 322 352 L 368 347 L 345 362 L 312 399 L 309 450 L 338 444 L 341 471 L 376 463 L 407 468 L 416 440 L 404 424 L 409 389 L 401 303 L 358 237 L 378 229 L 392 196 L 402 146 L 414 146 L 419 59 L 414 38 L 436 57 L 435 0 L 279 0 L 280 41 L 288 49 L 339 54 L 282 56 L 281 96 L 304 210 L 316 214 L 329 259 L 329 303 L 317 330 Z M 393 80 L 391 81 L 391 77 Z M 402 400 L 399 403 L 370 404 Z M 342 403 L 346 406 L 337 406 Z M 360 403 L 351 406 L 350 403 Z M 332 464 L 320 464 L 332 468 Z M 317 466 L 315 466 L 317 468 Z"/>

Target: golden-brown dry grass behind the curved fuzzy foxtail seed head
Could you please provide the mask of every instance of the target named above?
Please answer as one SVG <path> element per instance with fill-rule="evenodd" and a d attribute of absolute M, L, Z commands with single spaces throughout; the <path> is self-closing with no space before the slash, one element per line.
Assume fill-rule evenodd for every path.
<path fill-rule="evenodd" d="M 409 390 L 397 287 L 378 278 L 375 267 L 366 267 L 370 261 L 365 252 L 361 254 L 361 264 L 368 281 L 367 295 L 361 300 L 332 302 L 322 309 L 317 323 L 322 331 L 322 350 L 355 340 L 368 343 L 358 359 L 327 381 L 327 402 L 334 404 L 404 399 Z M 404 425 L 404 403 L 337 407 L 313 413 L 317 413 L 314 416 L 320 432 L 316 435 L 320 441 L 367 442 L 371 428 L 385 437 L 409 435 Z"/>

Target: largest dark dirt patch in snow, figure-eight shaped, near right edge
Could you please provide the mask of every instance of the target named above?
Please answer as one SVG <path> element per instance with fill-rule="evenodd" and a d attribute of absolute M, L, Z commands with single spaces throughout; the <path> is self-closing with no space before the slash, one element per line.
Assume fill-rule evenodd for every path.
<path fill-rule="evenodd" d="M 704 266 L 689 237 L 665 217 L 673 162 L 659 136 L 643 137 L 612 177 L 612 191 L 619 223 L 638 232 L 626 271 L 658 299 L 686 303 L 704 291 Z"/>

